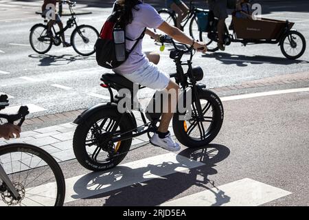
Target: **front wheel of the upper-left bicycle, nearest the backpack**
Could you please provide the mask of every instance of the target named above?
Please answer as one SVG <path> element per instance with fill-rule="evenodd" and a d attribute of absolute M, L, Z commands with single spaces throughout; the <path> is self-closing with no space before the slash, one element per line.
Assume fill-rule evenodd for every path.
<path fill-rule="evenodd" d="M 90 56 L 95 53 L 95 42 L 98 37 L 98 30 L 91 25 L 80 25 L 72 32 L 71 45 L 76 53 Z"/>

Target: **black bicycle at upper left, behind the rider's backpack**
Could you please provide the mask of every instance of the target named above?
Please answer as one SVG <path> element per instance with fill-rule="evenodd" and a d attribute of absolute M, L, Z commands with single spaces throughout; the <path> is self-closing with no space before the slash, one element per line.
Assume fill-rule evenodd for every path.
<path fill-rule="evenodd" d="M 95 41 L 97 41 L 99 37 L 98 30 L 91 25 L 78 25 L 76 21 L 76 13 L 73 11 L 76 2 L 71 3 L 67 1 L 67 3 L 71 12 L 71 18 L 69 18 L 67 25 L 62 31 L 56 32 L 53 25 L 52 36 L 47 34 L 47 19 L 44 20 L 46 24 L 37 23 L 31 28 L 30 45 L 38 54 L 46 54 L 52 48 L 52 45 L 61 45 L 61 34 L 74 26 L 76 28 L 71 33 L 71 45 L 73 49 L 82 56 L 90 56 L 95 53 Z"/>

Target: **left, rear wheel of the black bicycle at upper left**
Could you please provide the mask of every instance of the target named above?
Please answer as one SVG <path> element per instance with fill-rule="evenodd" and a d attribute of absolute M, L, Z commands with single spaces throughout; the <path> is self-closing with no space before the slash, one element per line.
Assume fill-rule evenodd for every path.
<path fill-rule="evenodd" d="M 47 25 L 38 23 L 31 28 L 30 45 L 38 54 L 46 54 L 52 48 L 52 39 L 47 36 Z"/>

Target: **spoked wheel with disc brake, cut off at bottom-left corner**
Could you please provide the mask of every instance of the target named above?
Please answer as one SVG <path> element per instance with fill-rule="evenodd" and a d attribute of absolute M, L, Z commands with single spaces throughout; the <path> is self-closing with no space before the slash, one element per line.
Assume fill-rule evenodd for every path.
<path fill-rule="evenodd" d="M 65 177 L 56 160 L 46 151 L 30 144 L 0 147 L 0 164 L 20 199 L 0 179 L 0 206 L 62 206 Z"/>

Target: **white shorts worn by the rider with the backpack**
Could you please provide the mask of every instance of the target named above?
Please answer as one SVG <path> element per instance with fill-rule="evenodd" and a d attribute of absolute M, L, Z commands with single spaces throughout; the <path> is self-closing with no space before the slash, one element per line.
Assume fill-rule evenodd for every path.
<path fill-rule="evenodd" d="M 170 83 L 170 75 L 161 72 L 157 65 L 147 62 L 131 74 L 120 74 L 133 83 L 150 89 L 163 90 Z"/>

